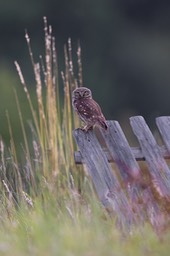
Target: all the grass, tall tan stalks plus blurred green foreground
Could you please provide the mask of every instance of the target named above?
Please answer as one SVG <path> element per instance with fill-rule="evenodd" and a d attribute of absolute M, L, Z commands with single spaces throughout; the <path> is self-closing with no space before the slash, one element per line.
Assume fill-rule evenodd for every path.
<path fill-rule="evenodd" d="M 123 235 L 98 201 L 83 167 L 75 165 L 72 130 L 80 124 L 72 112 L 71 91 L 83 81 L 81 49 L 78 46 L 76 79 L 68 41 L 63 85 L 59 85 L 55 39 L 45 18 L 44 22 L 45 58 L 41 57 L 39 63 L 34 61 L 26 33 L 36 104 L 15 62 L 32 113 L 31 137 L 14 92 L 23 139 L 22 157 L 16 150 L 20 141 L 16 145 L 8 114 L 10 147 L 0 141 L 0 255 L 169 255 L 169 232 L 160 240 L 145 223 Z"/>

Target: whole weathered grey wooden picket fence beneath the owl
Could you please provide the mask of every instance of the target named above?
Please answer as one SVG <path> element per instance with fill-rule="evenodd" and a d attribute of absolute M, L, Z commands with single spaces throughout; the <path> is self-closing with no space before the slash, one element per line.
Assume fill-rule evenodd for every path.
<path fill-rule="evenodd" d="M 99 200 L 117 217 L 119 226 L 149 221 L 160 233 L 168 226 L 170 216 L 170 168 L 166 162 L 170 158 L 170 116 L 156 118 L 162 146 L 142 116 L 130 118 L 139 147 L 130 147 L 117 121 L 107 123 L 108 130 L 100 130 L 106 149 L 94 131 L 73 131 L 79 148 L 75 162 L 87 166 Z M 139 160 L 145 161 L 147 172 Z"/>

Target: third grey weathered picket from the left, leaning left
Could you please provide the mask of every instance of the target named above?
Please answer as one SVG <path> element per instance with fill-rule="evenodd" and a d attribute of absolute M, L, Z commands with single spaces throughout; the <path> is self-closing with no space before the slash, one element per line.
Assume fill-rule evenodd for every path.
<path fill-rule="evenodd" d="M 161 197 L 169 200 L 170 171 L 155 138 L 142 116 L 131 117 L 130 123 L 145 156 L 153 186 Z"/>

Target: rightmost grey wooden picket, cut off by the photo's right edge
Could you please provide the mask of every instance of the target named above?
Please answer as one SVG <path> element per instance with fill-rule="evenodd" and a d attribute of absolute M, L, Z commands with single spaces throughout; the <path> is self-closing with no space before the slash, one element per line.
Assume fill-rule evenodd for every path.
<path fill-rule="evenodd" d="M 170 116 L 156 118 L 156 124 L 170 154 Z"/>

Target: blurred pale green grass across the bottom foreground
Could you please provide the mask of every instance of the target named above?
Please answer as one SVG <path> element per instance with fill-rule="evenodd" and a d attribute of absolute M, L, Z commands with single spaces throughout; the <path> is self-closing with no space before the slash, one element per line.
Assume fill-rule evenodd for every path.
<path fill-rule="evenodd" d="M 94 202 L 90 212 L 81 207 L 72 218 L 53 200 L 46 211 L 36 202 L 33 210 L 20 209 L 4 222 L 1 255 L 169 255 L 168 235 L 160 242 L 146 226 L 123 238 Z"/>

